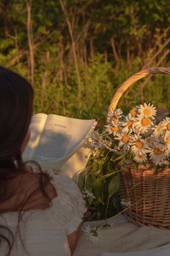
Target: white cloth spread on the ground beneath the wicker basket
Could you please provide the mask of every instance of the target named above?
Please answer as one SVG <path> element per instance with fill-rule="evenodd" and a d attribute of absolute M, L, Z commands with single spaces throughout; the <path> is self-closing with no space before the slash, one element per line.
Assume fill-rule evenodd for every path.
<path fill-rule="evenodd" d="M 94 227 L 99 223 L 103 221 L 91 221 L 84 225 Z M 157 253 L 154 256 L 167 256 L 168 252 L 170 256 L 170 230 L 135 226 L 122 215 L 109 219 L 109 223 L 112 224 L 109 229 L 100 230 L 101 237 L 97 244 L 89 241 L 86 233 L 82 231 L 73 256 L 144 256 L 145 254 L 141 254 L 143 251 L 148 253 L 153 248 Z M 164 247 L 166 244 L 167 247 Z"/>

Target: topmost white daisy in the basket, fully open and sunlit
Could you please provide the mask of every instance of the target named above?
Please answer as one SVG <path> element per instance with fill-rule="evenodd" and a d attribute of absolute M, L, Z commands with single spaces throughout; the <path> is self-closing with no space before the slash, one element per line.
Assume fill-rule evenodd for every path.
<path fill-rule="evenodd" d="M 146 103 L 143 105 L 140 104 L 138 112 L 140 116 L 144 116 L 146 118 L 155 119 L 154 116 L 156 116 L 156 108 L 153 104 L 151 105 L 151 103 L 148 103 L 148 105 Z"/>

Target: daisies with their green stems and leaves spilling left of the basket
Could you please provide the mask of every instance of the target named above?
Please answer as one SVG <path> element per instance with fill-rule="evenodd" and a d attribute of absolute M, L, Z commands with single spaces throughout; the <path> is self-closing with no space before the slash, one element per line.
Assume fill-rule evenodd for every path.
<path fill-rule="evenodd" d="M 91 158 L 79 184 L 83 184 L 94 219 L 106 220 L 136 203 L 130 196 L 139 186 L 130 178 L 130 172 L 127 181 L 121 182 L 124 172 L 127 174 L 127 170 L 133 169 L 135 176 L 135 173 L 146 171 L 141 166 L 149 166 L 149 174 L 154 175 L 169 168 L 170 118 L 156 124 L 156 108 L 151 103 L 135 106 L 126 115 L 118 108 L 108 112 L 107 124 L 102 131 L 92 133 L 89 145 Z M 141 177 L 137 183 L 143 186 Z M 128 191 L 125 190 L 120 198 L 121 187 L 128 187 Z M 140 194 L 136 200 L 140 202 L 145 197 Z M 91 218 L 91 214 L 88 217 Z"/>

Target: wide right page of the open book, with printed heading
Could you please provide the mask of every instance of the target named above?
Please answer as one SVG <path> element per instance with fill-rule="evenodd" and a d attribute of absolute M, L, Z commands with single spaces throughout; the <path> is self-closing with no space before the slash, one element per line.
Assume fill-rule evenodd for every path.
<path fill-rule="evenodd" d="M 35 150 L 34 160 L 39 163 L 58 161 L 61 166 L 81 147 L 94 122 L 94 119 L 49 115 Z"/>

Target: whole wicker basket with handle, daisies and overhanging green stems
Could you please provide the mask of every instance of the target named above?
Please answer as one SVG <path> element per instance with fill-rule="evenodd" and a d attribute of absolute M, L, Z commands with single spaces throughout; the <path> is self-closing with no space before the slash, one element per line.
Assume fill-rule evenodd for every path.
<path fill-rule="evenodd" d="M 130 85 L 157 73 L 170 69 L 145 69 L 124 82 L 112 98 L 107 124 L 89 139 L 91 156 L 79 176 L 88 221 L 105 219 L 107 226 L 107 218 L 125 212 L 133 222 L 170 229 L 170 117 L 156 123 L 151 103 L 127 114 L 116 108 Z"/>

